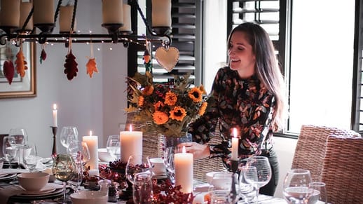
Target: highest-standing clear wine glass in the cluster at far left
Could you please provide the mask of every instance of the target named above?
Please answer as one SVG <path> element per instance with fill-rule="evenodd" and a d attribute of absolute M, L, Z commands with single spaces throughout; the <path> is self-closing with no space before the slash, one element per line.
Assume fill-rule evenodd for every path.
<path fill-rule="evenodd" d="M 21 154 L 20 147 L 24 147 L 28 142 L 27 131 L 24 128 L 12 128 L 9 131 L 8 141 L 14 149 L 18 149 L 18 168 L 20 168 Z"/>

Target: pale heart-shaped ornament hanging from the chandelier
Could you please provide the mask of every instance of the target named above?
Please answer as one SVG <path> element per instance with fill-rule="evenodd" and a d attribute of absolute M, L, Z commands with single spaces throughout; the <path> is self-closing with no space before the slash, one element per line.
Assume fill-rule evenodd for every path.
<path fill-rule="evenodd" d="M 159 47 L 155 52 L 156 61 L 161 67 L 171 72 L 179 60 L 179 50 L 174 47 L 166 49 L 164 47 Z"/>

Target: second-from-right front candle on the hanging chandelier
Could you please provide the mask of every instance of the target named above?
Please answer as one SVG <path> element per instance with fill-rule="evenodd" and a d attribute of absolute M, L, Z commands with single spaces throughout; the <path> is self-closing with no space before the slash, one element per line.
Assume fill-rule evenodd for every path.
<path fill-rule="evenodd" d="M 123 23 L 123 0 L 102 0 L 102 22 Z"/>

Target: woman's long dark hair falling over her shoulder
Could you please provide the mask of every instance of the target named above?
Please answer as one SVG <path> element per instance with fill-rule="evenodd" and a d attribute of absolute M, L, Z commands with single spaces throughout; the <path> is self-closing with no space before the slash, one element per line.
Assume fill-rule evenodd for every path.
<path fill-rule="evenodd" d="M 273 112 L 272 127 L 277 131 L 285 121 L 286 95 L 285 83 L 281 74 L 275 48 L 267 32 L 259 25 L 245 22 L 235 27 L 228 36 L 228 48 L 234 32 L 247 34 L 247 41 L 252 46 L 256 56 L 255 72 L 261 83 L 275 96 L 275 111 Z"/>

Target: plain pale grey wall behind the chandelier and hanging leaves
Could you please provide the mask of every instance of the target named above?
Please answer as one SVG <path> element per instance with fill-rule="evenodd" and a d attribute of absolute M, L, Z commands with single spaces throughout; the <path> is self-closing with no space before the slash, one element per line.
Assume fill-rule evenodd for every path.
<path fill-rule="evenodd" d="M 56 5 L 56 4 L 55 4 Z M 81 33 L 107 33 L 101 27 L 101 1 L 78 1 L 77 29 Z M 57 25 L 56 25 L 57 26 Z M 57 33 L 55 27 L 54 33 Z M 107 135 L 118 132 L 118 123 L 125 123 L 125 70 L 127 50 L 123 44 L 95 44 L 94 52 L 100 73 L 90 79 L 85 64 L 90 56 L 90 45 L 73 43 L 78 62 L 78 76 L 68 81 L 64 74 L 67 48 L 58 43 L 46 46 L 47 59 L 39 63 L 41 46 L 36 44 L 36 97 L 0 100 L 0 133 L 10 128 L 23 127 L 29 142 L 36 143 L 39 156 L 50 156 L 53 137 L 52 106 L 57 103 L 58 136 L 64 125 L 75 125 L 79 136 L 93 130 L 99 136 L 99 147 L 104 147 Z M 97 50 L 100 48 L 100 50 Z M 110 50 L 109 48 L 113 48 Z M 58 152 L 65 149 L 57 140 Z"/>

